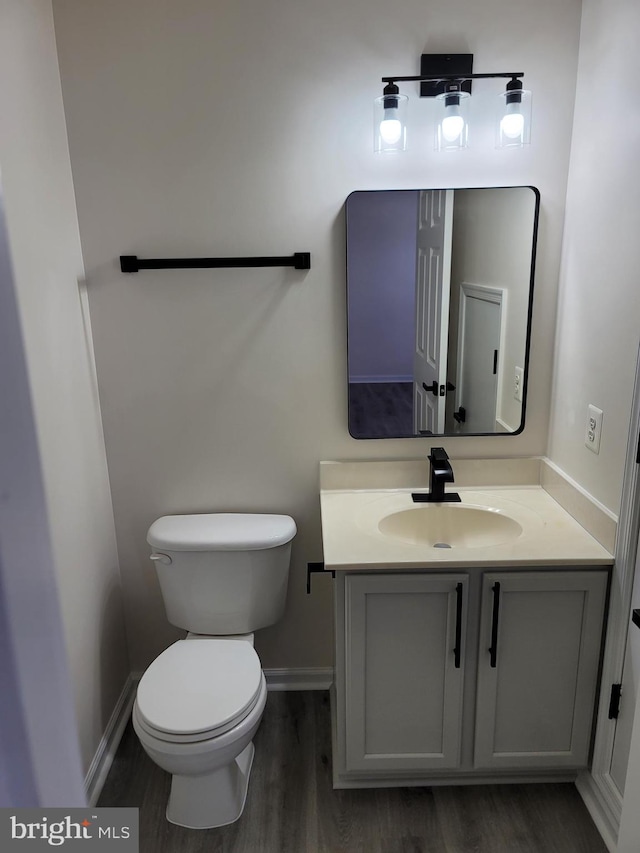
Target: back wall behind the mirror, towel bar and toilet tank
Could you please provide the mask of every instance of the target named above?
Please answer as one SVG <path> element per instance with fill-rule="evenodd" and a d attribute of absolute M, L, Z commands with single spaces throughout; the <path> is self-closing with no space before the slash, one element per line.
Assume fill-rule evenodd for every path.
<path fill-rule="evenodd" d="M 452 456 L 544 453 L 580 2 L 55 0 L 54 10 L 134 667 L 176 636 L 147 559 L 149 523 L 221 509 L 295 517 L 288 611 L 258 650 L 266 666 L 329 664 L 330 580 L 304 591 L 307 561 L 322 556 L 318 462 L 425 457 L 431 444 L 348 434 L 344 200 L 354 189 L 540 189 L 527 428 L 443 443 Z M 488 121 L 475 148 L 436 155 L 415 98 L 411 150 L 374 156 L 380 77 L 417 73 L 425 50 L 469 50 L 479 72 L 524 71 L 530 148 L 496 151 Z M 475 90 L 491 118 L 497 85 Z M 311 252 L 309 273 L 123 276 L 117 260 L 293 251 Z"/>

